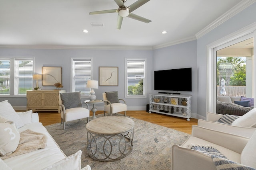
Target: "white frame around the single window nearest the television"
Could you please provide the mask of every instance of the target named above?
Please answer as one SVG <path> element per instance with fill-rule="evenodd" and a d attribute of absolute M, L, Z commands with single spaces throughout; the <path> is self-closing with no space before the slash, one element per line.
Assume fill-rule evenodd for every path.
<path fill-rule="evenodd" d="M 143 61 L 144 62 L 144 80 L 143 80 L 143 94 L 142 95 L 128 95 L 128 62 L 130 61 Z M 125 59 L 125 98 L 146 98 L 147 97 L 147 60 L 146 58 L 126 58 Z"/>

